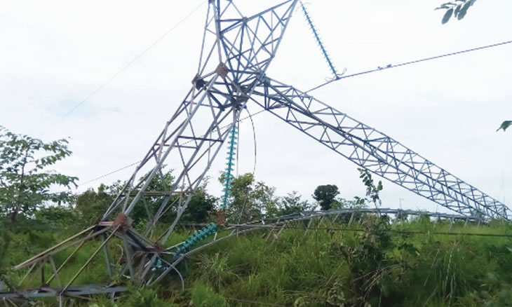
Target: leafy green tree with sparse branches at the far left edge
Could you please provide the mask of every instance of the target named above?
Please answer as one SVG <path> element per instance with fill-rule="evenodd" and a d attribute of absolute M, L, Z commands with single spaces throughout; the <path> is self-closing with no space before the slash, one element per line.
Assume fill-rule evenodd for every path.
<path fill-rule="evenodd" d="M 50 188 L 76 187 L 76 177 L 62 175 L 50 167 L 71 154 L 67 140 L 45 143 L 27 135 L 16 135 L 0 127 L 0 215 L 32 217 L 43 205 L 69 203 L 69 191 Z"/>

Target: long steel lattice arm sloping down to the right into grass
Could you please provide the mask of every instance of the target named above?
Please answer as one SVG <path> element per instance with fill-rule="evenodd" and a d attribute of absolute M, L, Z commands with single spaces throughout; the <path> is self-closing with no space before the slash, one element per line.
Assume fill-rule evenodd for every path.
<path fill-rule="evenodd" d="M 395 139 L 285 83 L 266 78 L 251 97 L 265 110 L 356 165 L 466 216 L 511 219 L 503 203 Z"/>

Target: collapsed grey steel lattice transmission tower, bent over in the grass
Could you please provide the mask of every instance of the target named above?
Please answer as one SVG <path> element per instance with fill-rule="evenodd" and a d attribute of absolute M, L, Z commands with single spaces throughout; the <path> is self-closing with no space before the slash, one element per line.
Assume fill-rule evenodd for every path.
<path fill-rule="evenodd" d="M 251 231 L 250 225 L 318 216 L 304 212 L 299 217 L 254 221 L 223 237 L 214 223 L 184 242 L 170 240 L 222 144 L 230 135 L 233 138 L 241 110 L 250 105 L 259 105 L 359 167 L 462 217 L 512 217 L 506 205 L 395 139 L 267 76 L 297 1 L 284 1 L 250 17 L 242 15 L 234 1 L 209 1 L 198 70 L 177 111 L 95 224 L 14 266 L 20 278 L 0 281 L 0 298 L 6 304 L 34 297 L 58 297 L 62 302 L 63 297 L 123 292 L 127 288 L 116 282 L 123 276 L 136 285 L 151 286 L 171 272 L 181 276 L 177 264 L 191 252 Z M 163 191 L 155 191 L 151 182 L 162 175 L 164 163 L 173 168 L 175 178 Z M 134 212 L 147 214 L 142 230 Z M 114 259 L 118 246 L 121 258 Z M 81 261 L 84 250 L 92 252 Z M 71 272 L 77 263 L 79 269 Z M 93 282 L 87 275 L 91 268 Z"/>

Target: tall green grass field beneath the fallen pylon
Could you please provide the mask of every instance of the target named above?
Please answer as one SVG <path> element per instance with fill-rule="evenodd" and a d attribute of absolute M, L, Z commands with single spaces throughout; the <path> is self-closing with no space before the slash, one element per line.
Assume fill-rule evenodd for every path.
<path fill-rule="evenodd" d="M 177 275 L 170 275 L 159 287 L 133 287 L 114 303 L 97 297 L 74 306 L 512 306 L 509 224 L 369 216 L 351 225 L 322 219 L 305 226 L 290 225 L 279 236 L 262 229 L 194 254 L 179 267 L 184 290 Z M 24 260 L 67 233 L 19 233 L 9 262 Z M 183 229 L 174 240 L 190 233 Z M 76 267 L 63 278 L 97 245 L 81 250 Z M 91 266 L 79 282 L 103 279 L 102 266 Z M 55 300 L 40 305 L 53 306 Z"/>

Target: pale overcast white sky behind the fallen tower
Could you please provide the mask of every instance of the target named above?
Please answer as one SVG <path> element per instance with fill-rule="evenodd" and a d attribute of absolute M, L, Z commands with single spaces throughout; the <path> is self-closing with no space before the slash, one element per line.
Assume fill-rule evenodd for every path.
<path fill-rule="evenodd" d="M 191 86 L 206 4 L 107 86 L 119 69 L 194 10 L 189 1 L 0 0 L 0 125 L 13 132 L 69 138 L 73 155 L 57 166 L 88 182 L 140 160 Z M 236 1 L 250 15 L 278 1 Z M 478 1 L 462 21 L 441 25 L 442 0 L 309 0 L 318 32 L 347 74 L 512 40 L 512 2 Z M 311 94 L 344 111 L 504 203 L 512 202 L 512 45 L 480 50 L 332 83 Z M 302 12 L 296 11 L 268 75 L 308 90 L 330 71 Z M 250 105 L 248 109 L 254 110 Z M 255 116 L 256 177 L 284 196 L 311 199 L 319 184 L 363 195 L 356 165 L 280 122 Z M 49 130 L 48 130 L 49 129 Z M 252 172 L 249 121 L 241 125 L 238 172 Z M 209 192 L 224 150 L 208 175 Z M 128 179 L 133 168 L 79 187 Z M 445 211 L 384 181 L 383 207 Z M 400 200 L 401 199 L 401 200 Z"/>

